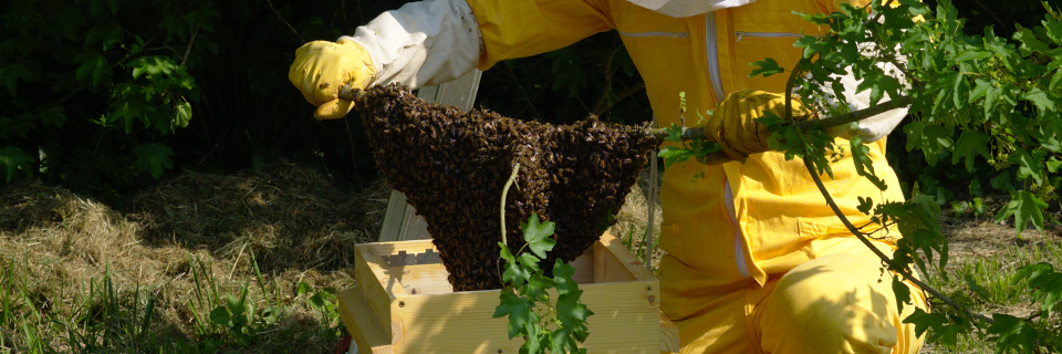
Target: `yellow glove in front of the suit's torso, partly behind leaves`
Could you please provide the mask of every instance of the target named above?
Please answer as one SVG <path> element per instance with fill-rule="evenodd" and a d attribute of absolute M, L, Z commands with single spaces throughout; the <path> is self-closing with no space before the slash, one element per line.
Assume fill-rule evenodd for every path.
<path fill-rule="evenodd" d="M 793 118 L 814 117 L 799 100 L 792 101 Z M 719 143 L 721 152 L 731 160 L 745 162 L 749 154 L 768 150 L 767 138 L 771 135 L 767 125 L 753 119 L 764 112 L 785 117 L 785 96 L 763 91 L 741 90 L 727 95 L 705 126 L 705 137 Z M 725 159 L 708 164 L 726 163 Z"/>

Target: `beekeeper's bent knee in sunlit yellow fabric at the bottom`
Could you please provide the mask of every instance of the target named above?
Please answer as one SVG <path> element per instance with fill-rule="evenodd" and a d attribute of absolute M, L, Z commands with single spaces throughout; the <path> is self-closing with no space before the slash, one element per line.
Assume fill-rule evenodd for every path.
<path fill-rule="evenodd" d="M 920 292 L 915 304 L 925 309 Z M 830 254 L 790 270 L 762 304 L 766 353 L 917 353 L 923 340 L 899 313 L 892 278 L 873 257 Z"/>

